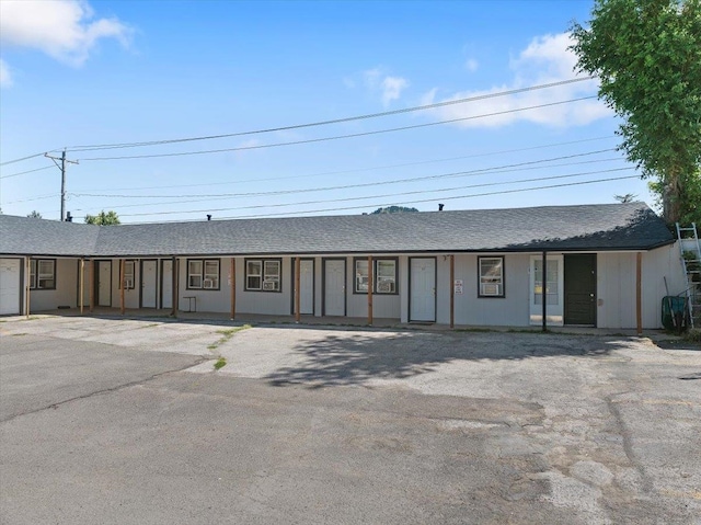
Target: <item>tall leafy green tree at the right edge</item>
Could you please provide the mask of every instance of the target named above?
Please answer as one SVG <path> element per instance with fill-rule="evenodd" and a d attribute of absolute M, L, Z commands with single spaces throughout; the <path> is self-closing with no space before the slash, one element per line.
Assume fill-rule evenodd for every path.
<path fill-rule="evenodd" d="M 654 178 L 663 216 L 682 219 L 701 166 L 701 0 L 595 0 L 571 26 L 577 68 L 623 123 L 619 149 Z"/>

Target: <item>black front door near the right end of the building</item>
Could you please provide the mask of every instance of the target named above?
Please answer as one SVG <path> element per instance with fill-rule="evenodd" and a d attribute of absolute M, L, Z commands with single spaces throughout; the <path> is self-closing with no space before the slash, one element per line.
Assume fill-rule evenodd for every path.
<path fill-rule="evenodd" d="M 596 254 L 565 255 L 565 324 L 596 327 Z"/>

